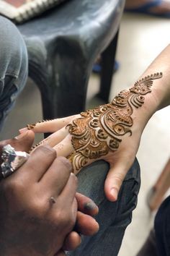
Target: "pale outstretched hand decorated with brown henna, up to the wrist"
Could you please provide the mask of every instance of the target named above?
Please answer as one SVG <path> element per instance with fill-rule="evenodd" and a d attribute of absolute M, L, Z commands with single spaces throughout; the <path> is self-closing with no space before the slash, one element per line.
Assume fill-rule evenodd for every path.
<path fill-rule="evenodd" d="M 161 73 L 144 77 L 130 90 L 120 92 L 112 103 L 80 115 L 28 125 L 27 129 L 33 129 L 35 133 L 54 132 L 40 144 L 48 144 L 58 155 L 67 157 L 74 174 L 93 161 L 104 159 L 109 162 L 104 189 L 107 198 L 114 201 L 133 164 L 140 136 L 148 121 L 148 110 L 141 108 L 145 95 L 151 93 L 153 80 L 161 77 Z M 143 118 L 139 115 L 141 112 Z"/>

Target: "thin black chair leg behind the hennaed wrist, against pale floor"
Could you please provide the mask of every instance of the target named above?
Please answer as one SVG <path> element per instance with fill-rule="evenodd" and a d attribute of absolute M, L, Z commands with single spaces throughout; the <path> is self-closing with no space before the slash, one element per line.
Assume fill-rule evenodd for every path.
<path fill-rule="evenodd" d="M 115 38 L 102 53 L 102 73 L 98 97 L 101 98 L 105 103 L 108 103 L 109 101 L 109 92 L 112 85 L 118 34 L 119 31 L 117 31 Z"/>

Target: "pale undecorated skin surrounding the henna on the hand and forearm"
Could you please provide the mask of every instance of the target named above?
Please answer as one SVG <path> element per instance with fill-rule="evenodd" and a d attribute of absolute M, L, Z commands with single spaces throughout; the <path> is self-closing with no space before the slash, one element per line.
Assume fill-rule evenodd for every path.
<path fill-rule="evenodd" d="M 107 174 L 107 179 L 104 184 L 104 191 L 108 200 L 117 200 L 117 195 L 121 184 L 130 166 L 132 166 L 135 155 L 140 145 L 140 137 L 145 129 L 148 120 L 158 111 L 158 109 L 168 106 L 170 103 L 170 46 L 167 46 L 164 51 L 159 54 L 146 71 L 139 77 L 151 76 L 157 72 L 162 73 L 161 77 L 153 80 L 151 92 L 144 95 L 142 106 L 133 107 L 131 119 L 133 125 L 130 131 L 125 133 L 121 138 L 121 142 L 117 150 L 110 150 L 107 155 L 102 155 L 100 158 L 89 159 L 86 165 L 98 159 L 104 159 L 109 162 L 110 169 Z M 134 85 L 133 85 L 134 86 Z M 132 86 L 132 87 L 133 87 Z M 130 88 L 132 88 L 130 87 Z M 68 116 L 64 119 L 54 119 L 44 121 L 33 125 L 32 130 L 36 132 L 52 132 L 53 134 L 48 139 L 43 140 L 41 144 L 51 145 L 57 151 L 58 155 L 64 155 L 69 158 L 75 148 L 73 147 L 73 136 L 68 132 L 68 124 L 73 124 L 73 121 L 82 118 L 82 116 Z M 82 119 L 82 126 L 84 125 Z M 29 128 L 29 126 L 28 126 Z M 23 132 L 25 129 L 21 129 Z"/>

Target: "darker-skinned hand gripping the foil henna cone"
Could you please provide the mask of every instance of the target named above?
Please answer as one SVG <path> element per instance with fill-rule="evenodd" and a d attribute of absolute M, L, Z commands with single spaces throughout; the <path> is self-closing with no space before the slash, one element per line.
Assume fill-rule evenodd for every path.
<path fill-rule="evenodd" d="M 34 133 L 23 133 L 10 144 L 28 151 Z M 65 255 L 75 249 L 81 234 L 92 235 L 99 229 L 92 218 L 97 205 L 76 193 L 76 176 L 66 158 L 56 158 L 55 150 L 42 147 L 32 154 L 14 174 L 0 182 L 0 255 Z M 55 204 L 50 202 L 55 197 Z M 77 223 L 77 231 L 73 226 Z"/>

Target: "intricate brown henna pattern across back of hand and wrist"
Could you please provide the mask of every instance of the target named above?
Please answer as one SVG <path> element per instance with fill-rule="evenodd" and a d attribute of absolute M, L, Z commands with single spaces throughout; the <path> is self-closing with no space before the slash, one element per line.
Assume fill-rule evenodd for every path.
<path fill-rule="evenodd" d="M 139 108 L 143 105 L 144 95 L 151 93 L 153 80 L 161 77 L 161 72 L 144 77 L 135 82 L 130 90 L 122 90 L 112 103 L 82 112 L 81 118 L 68 124 L 75 150 L 68 159 L 75 174 L 89 160 L 117 150 L 122 141 L 120 137 L 127 133 L 132 135 L 130 127 L 133 126 L 133 107 Z"/>

